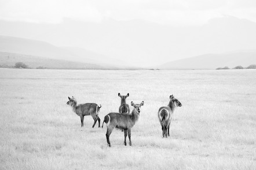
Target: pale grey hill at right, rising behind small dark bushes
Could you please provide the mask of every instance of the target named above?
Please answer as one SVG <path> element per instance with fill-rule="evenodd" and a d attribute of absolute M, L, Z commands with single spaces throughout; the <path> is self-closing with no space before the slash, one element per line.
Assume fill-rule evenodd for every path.
<path fill-rule="evenodd" d="M 218 67 L 236 67 L 256 63 L 256 51 L 238 51 L 223 54 L 205 54 L 191 58 L 167 62 L 158 66 L 158 69 L 216 69 Z"/>

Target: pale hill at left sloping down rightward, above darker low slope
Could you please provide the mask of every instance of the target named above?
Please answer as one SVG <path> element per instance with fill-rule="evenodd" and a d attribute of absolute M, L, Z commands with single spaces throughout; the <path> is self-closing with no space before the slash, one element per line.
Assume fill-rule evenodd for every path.
<path fill-rule="evenodd" d="M 73 63 L 83 62 L 81 65 L 78 65 L 79 68 L 81 66 L 83 67 L 86 63 L 86 67 L 94 69 L 133 69 L 132 66 L 123 66 L 122 64 L 124 62 L 122 61 L 83 48 L 56 47 L 45 41 L 23 39 L 19 37 L 0 36 L 0 51 L 19 54 L 20 57 L 26 56 L 26 59 L 30 56 L 32 61 L 35 60 L 32 58 L 33 56 L 41 56 L 45 57 L 47 60 L 65 60 L 72 61 Z M 45 63 L 46 59 L 41 58 L 41 61 Z"/>

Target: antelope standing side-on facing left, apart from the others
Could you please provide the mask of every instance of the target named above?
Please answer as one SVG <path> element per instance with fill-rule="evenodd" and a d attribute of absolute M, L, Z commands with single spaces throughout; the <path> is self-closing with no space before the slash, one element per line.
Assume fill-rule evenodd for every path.
<path fill-rule="evenodd" d="M 93 117 L 93 127 L 95 126 L 97 120 L 98 127 L 100 127 L 100 118 L 98 117 L 98 113 L 100 112 L 101 105 L 97 105 L 96 103 L 85 103 L 77 105 L 77 101 L 73 96 L 72 98 L 68 97 L 68 100 L 69 101 L 67 102 L 67 105 L 70 105 L 76 115 L 80 116 L 81 118 L 81 127 L 83 127 L 83 117 L 87 115 L 91 115 Z"/>

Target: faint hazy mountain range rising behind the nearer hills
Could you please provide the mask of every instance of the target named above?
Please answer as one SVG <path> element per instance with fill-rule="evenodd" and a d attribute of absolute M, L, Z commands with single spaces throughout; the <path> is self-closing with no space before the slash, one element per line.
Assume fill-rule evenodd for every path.
<path fill-rule="evenodd" d="M 46 41 L 58 47 L 82 47 L 137 66 L 255 49 L 255 30 L 255 22 L 231 16 L 213 18 L 196 27 L 174 27 L 145 20 L 92 23 L 64 18 L 59 24 L 0 20 L 1 35 Z"/>

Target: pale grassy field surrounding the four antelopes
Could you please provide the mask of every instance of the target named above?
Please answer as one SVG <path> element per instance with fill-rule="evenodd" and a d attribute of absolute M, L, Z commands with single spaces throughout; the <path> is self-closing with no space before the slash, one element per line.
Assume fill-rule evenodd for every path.
<path fill-rule="evenodd" d="M 0 169 L 256 169 L 256 70 L 0 69 Z M 140 103 L 133 146 L 92 128 L 66 103 L 101 104 L 103 122 L 121 95 Z M 174 95 L 169 138 L 157 111 Z M 130 107 L 131 108 L 131 107 Z"/>

